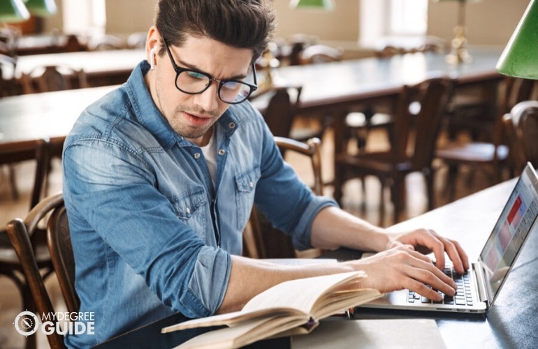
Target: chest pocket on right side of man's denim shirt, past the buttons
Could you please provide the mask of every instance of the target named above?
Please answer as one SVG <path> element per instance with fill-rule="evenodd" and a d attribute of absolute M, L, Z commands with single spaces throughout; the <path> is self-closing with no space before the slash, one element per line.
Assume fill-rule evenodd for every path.
<path fill-rule="evenodd" d="M 238 208 L 238 229 L 245 228 L 254 203 L 256 183 L 260 179 L 259 168 L 252 168 L 235 176 L 235 202 Z"/>

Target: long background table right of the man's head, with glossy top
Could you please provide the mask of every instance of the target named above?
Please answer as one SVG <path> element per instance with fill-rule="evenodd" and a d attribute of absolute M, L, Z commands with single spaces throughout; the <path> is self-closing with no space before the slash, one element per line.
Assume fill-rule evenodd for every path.
<path fill-rule="evenodd" d="M 275 84 L 302 86 L 298 114 L 333 116 L 335 151 L 346 144 L 344 117 L 364 105 L 384 104 L 393 110 L 404 84 L 416 84 L 430 77 L 452 77 L 456 94 L 481 94 L 481 100 L 496 105 L 497 84 L 504 78 L 495 70 L 502 47 L 470 48 L 468 64 L 446 63 L 444 54 L 433 52 L 397 55 L 388 59 L 355 59 L 308 66 L 286 66 L 275 70 Z"/>

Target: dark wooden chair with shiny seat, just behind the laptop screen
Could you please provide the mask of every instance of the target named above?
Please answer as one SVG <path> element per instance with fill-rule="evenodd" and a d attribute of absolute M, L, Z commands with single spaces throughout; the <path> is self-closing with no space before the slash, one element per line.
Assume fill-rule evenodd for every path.
<path fill-rule="evenodd" d="M 493 141 L 483 142 L 469 140 L 466 142 L 447 142 L 439 144 L 435 157 L 448 165 L 446 177 L 446 192 L 449 200 L 453 200 L 456 193 L 456 179 L 462 165 L 472 169 L 467 185 L 471 185 L 473 171 L 477 168 L 486 170 L 490 184 L 498 183 L 502 178 L 502 168 L 509 168 L 509 147 L 505 144 L 506 137 L 502 125 L 502 117 L 511 110 L 516 103 L 525 101 L 532 95 L 535 86 L 534 80 L 506 77 L 500 92 L 500 103 L 493 130 Z M 511 171 L 511 169 L 509 168 Z"/>

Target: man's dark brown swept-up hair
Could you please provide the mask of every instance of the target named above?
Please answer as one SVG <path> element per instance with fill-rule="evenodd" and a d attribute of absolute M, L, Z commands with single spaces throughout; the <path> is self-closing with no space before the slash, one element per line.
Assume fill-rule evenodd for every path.
<path fill-rule="evenodd" d="M 181 46 L 187 35 L 207 37 L 252 50 L 254 62 L 275 29 L 275 15 L 269 0 L 159 0 L 155 26 L 168 45 Z"/>

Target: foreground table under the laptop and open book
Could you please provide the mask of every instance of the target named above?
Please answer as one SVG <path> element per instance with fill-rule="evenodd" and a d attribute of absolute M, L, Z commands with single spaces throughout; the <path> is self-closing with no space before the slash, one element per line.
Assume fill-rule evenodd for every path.
<path fill-rule="evenodd" d="M 392 230 L 419 227 L 434 228 L 442 235 L 458 239 L 469 253 L 471 260 L 476 260 L 497 217 L 507 201 L 515 180 L 506 181 L 479 193 L 439 207 L 421 216 L 391 227 Z M 358 309 L 355 318 L 432 318 L 447 348 L 535 348 L 538 343 L 538 227 L 535 227 L 512 273 L 508 276 L 497 297 L 495 304 L 487 315 L 375 311 Z M 347 259 L 358 258 L 361 253 L 341 249 L 328 253 L 326 257 Z M 516 300 L 524 300 L 525 304 Z M 150 325 L 140 327 L 129 333 L 106 341 L 102 348 L 126 348 L 136 344 L 138 348 L 171 348 L 187 340 L 198 332 L 191 330 L 161 334 L 166 325 L 184 320 L 177 314 Z M 342 320 L 347 321 L 347 320 Z M 419 334 L 417 334 L 419 335 Z M 395 343 L 395 346 L 398 343 Z M 360 346 L 360 343 L 357 343 Z M 289 341 L 261 341 L 252 348 L 289 348 Z M 293 346 L 292 346 L 293 348 Z"/>

